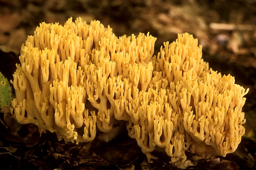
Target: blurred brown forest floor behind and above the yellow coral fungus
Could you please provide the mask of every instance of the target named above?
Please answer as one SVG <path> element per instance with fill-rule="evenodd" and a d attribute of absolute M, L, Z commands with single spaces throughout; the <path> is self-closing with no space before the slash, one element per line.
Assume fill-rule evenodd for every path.
<path fill-rule="evenodd" d="M 12 79 L 20 47 L 39 23 L 63 25 L 70 17 L 87 23 L 100 20 L 117 36 L 149 31 L 157 37 L 155 52 L 178 33 L 193 34 L 213 70 L 231 74 L 237 84 L 250 88 L 243 108 L 245 137 L 255 142 L 255 0 L 0 0 L 0 71 L 5 77 Z"/>

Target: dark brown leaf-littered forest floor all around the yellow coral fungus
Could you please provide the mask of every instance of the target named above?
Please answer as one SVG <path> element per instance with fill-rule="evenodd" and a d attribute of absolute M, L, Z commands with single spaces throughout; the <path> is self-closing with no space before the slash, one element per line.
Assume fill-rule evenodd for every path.
<path fill-rule="evenodd" d="M 9 80 L 19 62 L 19 50 L 27 35 L 40 22 L 59 22 L 82 17 L 110 25 L 117 36 L 139 32 L 157 37 L 155 51 L 178 33 L 189 32 L 203 44 L 203 58 L 213 70 L 235 76 L 236 83 L 250 88 L 244 112 L 246 134 L 236 152 L 197 162 L 189 169 L 255 168 L 256 145 L 256 28 L 254 0 L 1 0 L 0 71 Z M 5 113 L 5 114 L 4 114 Z M 168 157 L 148 164 L 136 141 L 124 130 L 109 143 L 65 144 L 54 134 L 39 135 L 34 125 L 24 125 L 13 134 L 13 120 L 7 110 L 0 114 L 0 162 L 5 169 L 170 169 Z M 190 155 L 192 158 L 193 155 Z M 189 163 L 189 162 L 187 162 Z M 177 168 L 172 168 L 177 169 Z"/>

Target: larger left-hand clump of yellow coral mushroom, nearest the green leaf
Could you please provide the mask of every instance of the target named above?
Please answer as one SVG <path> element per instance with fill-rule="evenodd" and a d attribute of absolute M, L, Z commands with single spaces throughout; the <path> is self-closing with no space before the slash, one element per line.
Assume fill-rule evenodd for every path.
<path fill-rule="evenodd" d="M 124 105 L 122 90 L 148 87 L 155 40 L 149 33 L 118 39 L 109 26 L 81 18 L 64 26 L 40 24 L 21 47 L 12 81 L 15 119 L 72 142 L 93 140 L 96 125 L 110 131 L 114 113 L 124 112 L 116 107 Z M 84 134 L 77 133 L 80 128 Z"/>

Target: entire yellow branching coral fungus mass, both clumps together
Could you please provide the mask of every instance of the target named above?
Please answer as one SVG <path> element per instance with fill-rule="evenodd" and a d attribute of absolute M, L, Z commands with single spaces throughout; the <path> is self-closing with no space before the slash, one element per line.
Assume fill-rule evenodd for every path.
<path fill-rule="evenodd" d="M 249 89 L 209 68 L 192 35 L 178 34 L 157 55 L 155 41 L 149 33 L 118 38 L 81 18 L 41 23 L 22 45 L 11 81 L 14 118 L 77 143 L 123 120 L 149 162 L 157 147 L 170 162 L 185 161 L 185 151 L 234 152 Z"/>

